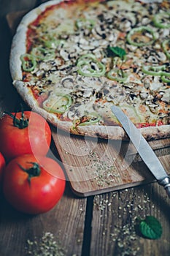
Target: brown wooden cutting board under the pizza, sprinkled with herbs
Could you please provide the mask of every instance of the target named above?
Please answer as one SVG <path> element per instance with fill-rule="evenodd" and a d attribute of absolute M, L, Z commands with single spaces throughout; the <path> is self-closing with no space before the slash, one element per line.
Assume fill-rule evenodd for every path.
<path fill-rule="evenodd" d="M 26 11 L 7 15 L 12 34 Z M 69 135 L 53 127 L 53 140 L 73 192 L 81 197 L 154 181 L 131 143 Z M 170 139 L 150 142 L 166 171 Z"/>

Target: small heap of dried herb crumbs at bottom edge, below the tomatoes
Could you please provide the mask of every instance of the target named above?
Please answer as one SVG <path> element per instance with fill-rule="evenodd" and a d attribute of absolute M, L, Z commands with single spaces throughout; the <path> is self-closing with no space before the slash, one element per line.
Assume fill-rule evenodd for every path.
<path fill-rule="evenodd" d="M 34 241 L 27 240 L 26 255 L 34 256 L 64 256 L 65 252 L 59 241 L 55 240 L 53 233 L 46 232 L 42 238 Z"/>

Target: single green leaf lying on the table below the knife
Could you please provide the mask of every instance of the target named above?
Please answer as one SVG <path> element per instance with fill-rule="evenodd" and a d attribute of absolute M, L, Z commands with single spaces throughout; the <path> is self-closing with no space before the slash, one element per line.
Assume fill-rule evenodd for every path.
<path fill-rule="evenodd" d="M 139 231 L 145 238 L 158 239 L 162 235 L 161 223 L 152 216 L 147 216 L 139 222 Z"/>

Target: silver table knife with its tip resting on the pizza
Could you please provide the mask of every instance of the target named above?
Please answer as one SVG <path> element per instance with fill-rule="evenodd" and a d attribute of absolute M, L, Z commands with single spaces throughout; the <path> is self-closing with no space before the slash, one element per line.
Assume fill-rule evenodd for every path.
<path fill-rule="evenodd" d="M 134 144 L 136 150 L 139 152 L 144 163 L 150 169 L 152 175 L 155 176 L 158 184 L 166 189 L 166 193 L 170 197 L 170 177 L 167 175 L 155 152 L 147 143 L 147 140 L 144 139 L 140 130 L 135 127 L 128 116 L 123 113 L 123 110 L 115 105 L 111 107 L 111 110 L 118 121 L 120 121 L 120 124 L 123 125 L 123 129 L 125 129 L 125 132 Z"/>

